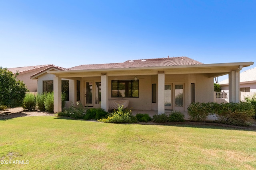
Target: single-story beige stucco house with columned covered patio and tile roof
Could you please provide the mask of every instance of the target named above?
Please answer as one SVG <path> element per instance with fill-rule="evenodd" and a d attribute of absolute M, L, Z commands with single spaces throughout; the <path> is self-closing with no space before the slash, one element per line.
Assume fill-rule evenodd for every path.
<path fill-rule="evenodd" d="M 253 62 L 203 64 L 188 57 L 129 60 L 124 63 L 88 64 L 68 70 L 35 74 L 40 84 L 52 75 L 54 112 L 61 111 L 62 80 L 69 81 L 69 102 L 106 111 L 125 107 L 187 111 L 191 102 L 213 102 L 213 78 L 229 74 L 230 101 L 239 102 L 239 71 Z"/>

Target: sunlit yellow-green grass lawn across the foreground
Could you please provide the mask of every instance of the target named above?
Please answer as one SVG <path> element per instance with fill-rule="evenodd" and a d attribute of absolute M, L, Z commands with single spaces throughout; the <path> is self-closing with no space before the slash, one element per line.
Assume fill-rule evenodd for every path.
<path fill-rule="evenodd" d="M 256 131 L 50 116 L 0 119 L 0 129 L 0 160 L 11 160 L 1 170 L 256 169 Z"/>

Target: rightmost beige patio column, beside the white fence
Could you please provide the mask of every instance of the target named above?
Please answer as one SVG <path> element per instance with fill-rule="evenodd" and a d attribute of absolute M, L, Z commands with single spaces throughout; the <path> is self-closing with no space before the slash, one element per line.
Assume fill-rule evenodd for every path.
<path fill-rule="evenodd" d="M 229 102 L 240 102 L 240 72 L 231 71 L 228 74 L 228 100 Z"/>

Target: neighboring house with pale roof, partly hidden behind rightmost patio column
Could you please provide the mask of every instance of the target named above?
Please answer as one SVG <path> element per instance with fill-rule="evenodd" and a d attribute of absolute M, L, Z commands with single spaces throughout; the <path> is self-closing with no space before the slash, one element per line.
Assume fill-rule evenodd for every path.
<path fill-rule="evenodd" d="M 228 79 L 219 84 L 222 92 L 228 92 Z M 240 73 L 240 92 L 256 92 L 256 67 Z"/>

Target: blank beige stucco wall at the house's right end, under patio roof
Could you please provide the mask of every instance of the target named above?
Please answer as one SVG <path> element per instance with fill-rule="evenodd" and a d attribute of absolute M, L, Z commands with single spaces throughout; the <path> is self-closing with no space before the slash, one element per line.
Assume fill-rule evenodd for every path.
<path fill-rule="evenodd" d="M 195 102 L 213 102 L 214 81 L 203 74 L 196 75 Z"/>

